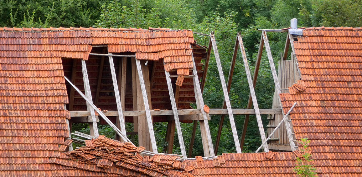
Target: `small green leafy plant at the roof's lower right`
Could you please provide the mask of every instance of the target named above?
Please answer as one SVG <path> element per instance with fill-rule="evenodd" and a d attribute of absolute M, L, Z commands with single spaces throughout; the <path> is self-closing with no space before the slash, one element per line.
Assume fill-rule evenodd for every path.
<path fill-rule="evenodd" d="M 311 162 L 313 161 L 313 159 L 311 159 L 311 151 L 308 148 L 308 143 L 310 142 L 310 140 L 308 140 L 308 138 L 302 138 L 300 140 L 301 141 L 299 141 L 299 143 L 303 145 L 301 149 L 302 157 L 296 157 L 297 165 L 295 166 L 293 171 L 295 171 L 299 177 L 316 177 L 316 168 Z"/>

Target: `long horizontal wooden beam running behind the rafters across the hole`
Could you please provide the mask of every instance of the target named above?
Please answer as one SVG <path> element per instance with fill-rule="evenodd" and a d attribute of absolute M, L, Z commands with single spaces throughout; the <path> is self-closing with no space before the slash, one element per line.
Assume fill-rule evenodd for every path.
<path fill-rule="evenodd" d="M 259 109 L 260 114 L 282 114 L 281 109 Z M 173 115 L 172 110 L 159 110 L 150 111 L 151 115 Z M 105 116 L 118 116 L 118 111 L 107 111 L 103 112 Z M 201 114 L 201 110 L 198 109 L 186 109 L 186 110 L 177 110 L 178 115 L 193 115 L 193 114 Z M 209 112 L 210 115 L 227 115 L 227 109 L 210 109 Z M 235 115 L 252 115 L 255 114 L 254 109 L 232 109 L 232 114 Z M 89 111 L 70 111 L 71 117 L 83 117 L 83 116 L 89 116 Z M 123 111 L 124 116 L 142 116 L 146 115 L 146 111 Z M 199 117 L 199 116 L 197 116 Z M 186 117 L 185 117 L 186 118 Z M 180 118 L 181 119 L 181 118 Z M 198 119 L 190 119 L 190 120 L 199 120 Z M 188 120 L 188 119 L 185 119 Z"/>

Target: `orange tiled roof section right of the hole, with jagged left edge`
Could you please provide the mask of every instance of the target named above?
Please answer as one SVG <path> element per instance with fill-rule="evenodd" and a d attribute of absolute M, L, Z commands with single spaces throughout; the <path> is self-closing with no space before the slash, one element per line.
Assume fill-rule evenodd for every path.
<path fill-rule="evenodd" d="M 356 30 L 358 29 L 358 30 Z M 282 93 L 297 139 L 307 137 L 320 177 L 362 174 L 361 28 L 306 28 L 294 48 L 304 92 Z"/>

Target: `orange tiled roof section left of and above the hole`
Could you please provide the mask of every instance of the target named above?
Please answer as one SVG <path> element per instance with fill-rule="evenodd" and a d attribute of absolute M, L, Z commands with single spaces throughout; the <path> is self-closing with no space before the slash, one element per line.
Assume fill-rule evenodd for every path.
<path fill-rule="evenodd" d="M 0 28 L 0 177 L 110 175 L 49 162 L 59 155 L 59 145 L 68 136 L 70 114 L 64 110 L 68 97 L 61 57 L 87 59 L 89 44 L 112 44 L 110 52 L 158 55 L 187 52 L 193 43 L 189 30 L 119 30 L 127 29 Z M 178 53 L 175 58 L 188 57 Z M 192 67 L 184 60 L 173 65 Z"/>

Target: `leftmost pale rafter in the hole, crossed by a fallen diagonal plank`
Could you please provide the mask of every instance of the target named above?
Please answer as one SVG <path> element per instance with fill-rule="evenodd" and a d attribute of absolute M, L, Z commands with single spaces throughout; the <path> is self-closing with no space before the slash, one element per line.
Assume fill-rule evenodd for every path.
<path fill-rule="evenodd" d="M 85 96 L 89 99 L 89 101 L 92 101 L 92 93 L 90 92 L 87 66 L 85 65 L 85 61 L 83 59 L 82 59 L 82 72 L 83 72 Z M 93 107 L 91 107 L 88 102 L 87 102 L 87 111 L 90 111 L 90 119 L 92 119 L 92 123 L 89 123 L 90 135 L 98 137 L 99 134 L 98 134 L 97 121 L 96 121 L 96 114 L 94 113 Z"/>

